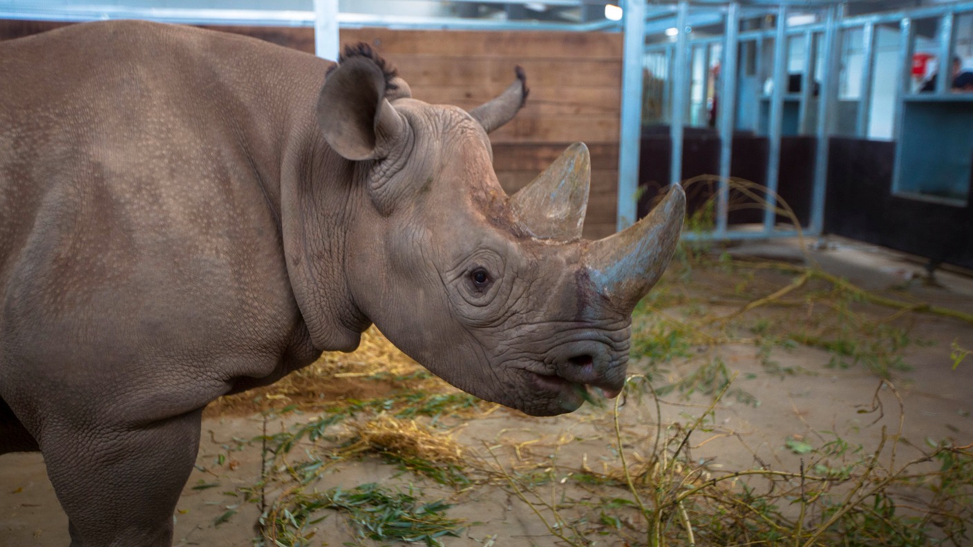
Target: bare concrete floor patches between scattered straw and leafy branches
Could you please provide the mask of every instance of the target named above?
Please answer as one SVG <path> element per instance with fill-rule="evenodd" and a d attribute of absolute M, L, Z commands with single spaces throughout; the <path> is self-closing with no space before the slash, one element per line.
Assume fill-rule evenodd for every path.
<path fill-rule="evenodd" d="M 970 277 L 940 272 L 937 285 L 926 285 L 913 279 L 922 273 L 922 268 L 909 257 L 854 241 L 832 239 L 831 242 L 830 248 L 811 251 L 811 258 L 825 271 L 847 277 L 870 290 L 908 285 L 909 298 L 973 313 Z M 748 243 L 730 252 L 775 259 L 802 254 L 795 241 Z M 903 436 L 917 446 L 922 446 L 927 438 L 953 438 L 957 444 L 969 443 L 973 441 L 973 374 L 970 374 L 973 356 L 954 371 L 949 355 L 953 341 L 965 347 L 973 346 L 973 325 L 931 315 L 918 317 L 913 336 L 934 344 L 911 348 L 907 361 L 913 371 L 897 375 L 893 380 L 907 407 Z M 893 428 L 897 425 L 897 404 L 890 390 L 880 389 L 885 417 L 873 424 L 874 414 L 862 415 L 858 411 L 871 404 L 879 380 L 861 368 L 823 368 L 822 364 L 829 358 L 823 350 L 777 351 L 775 359 L 787 366 L 813 371 L 810 375 L 789 377 L 766 374 L 754 358 L 753 346 L 724 346 L 720 351 L 728 365 L 739 371 L 736 385 L 761 404 L 755 408 L 728 398 L 719 405 L 717 430 L 734 434 L 715 435 L 712 442 L 706 442 L 694 452 L 694 456 L 709 459 L 717 467 L 746 468 L 752 465 L 756 455 L 789 468 L 798 465 L 800 459 L 784 448 L 785 439 L 792 435 L 812 438 L 823 430 L 841 431 L 847 439 L 867 445 L 877 441 L 883 424 Z M 696 409 L 703 406 L 703 399 L 689 405 Z M 457 435 L 469 446 L 482 447 L 484 442 L 501 442 L 512 435 L 511 431 L 529 431 L 528 436 L 536 439 L 532 446 L 554 447 L 552 450 L 557 451 L 560 461 L 590 462 L 605 452 L 606 445 L 604 431 L 599 432 L 591 412 L 554 419 L 526 419 L 516 413 L 498 411 L 465 424 Z M 685 419 L 686 412 L 685 405 L 664 406 L 661 421 Z M 651 416 L 646 419 L 656 421 Z M 197 469 L 175 515 L 176 545 L 254 544 L 262 508 L 259 502 L 243 500 L 237 489 L 259 482 L 265 461 L 259 443 L 241 440 L 253 439 L 265 431 L 284 430 L 289 425 L 280 419 L 259 417 L 204 421 Z M 560 445 L 558 439 L 565 431 L 572 431 L 579 439 L 595 440 Z M 694 442 L 699 441 L 694 439 Z M 741 448 L 741 442 L 747 448 Z M 904 460 L 915 454 L 918 452 L 905 447 L 901 457 Z M 328 486 L 410 480 L 376 459 L 365 459 L 342 464 L 329 476 Z M 215 486 L 199 488 L 206 485 Z M 434 486 L 425 488 L 430 489 L 430 495 L 437 493 Z M 447 545 L 556 544 L 528 508 L 502 489 L 438 493 L 456 503 L 450 516 L 482 523 L 468 529 L 464 537 L 447 538 Z M 220 523 L 224 516 L 225 522 Z M 341 518 L 328 518 L 320 525 L 317 535 L 321 543 L 314 544 L 340 545 L 351 537 Z M 0 456 L 0 547 L 68 543 L 67 521 L 45 474 L 42 457 L 37 454 Z"/>

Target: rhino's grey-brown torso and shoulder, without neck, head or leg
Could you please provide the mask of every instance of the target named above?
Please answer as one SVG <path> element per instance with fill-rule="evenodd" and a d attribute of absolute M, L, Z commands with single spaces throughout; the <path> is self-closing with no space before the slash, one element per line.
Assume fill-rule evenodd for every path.
<path fill-rule="evenodd" d="M 279 195 L 325 68 L 134 21 L 0 46 L 0 391 L 131 384 L 171 413 L 316 356 Z"/>

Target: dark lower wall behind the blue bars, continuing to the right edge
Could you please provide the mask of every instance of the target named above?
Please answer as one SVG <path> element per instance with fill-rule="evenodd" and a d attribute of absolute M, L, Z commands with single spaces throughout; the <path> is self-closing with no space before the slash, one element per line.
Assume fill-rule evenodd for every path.
<path fill-rule="evenodd" d="M 669 178 L 671 141 L 664 126 L 645 128 L 639 158 L 639 216 L 645 215 Z M 780 143 L 778 194 L 794 210 L 803 226 L 811 217 L 814 177 L 813 137 L 784 137 Z M 892 195 L 895 143 L 832 137 L 828 149 L 824 232 L 851 237 L 928 258 L 934 262 L 973 268 L 973 180 L 963 207 L 918 201 Z M 712 129 L 686 128 L 683 138 L 682 179 L 719 172 L 720 139 Z M 767 181 L 768 140 L 752 133 L 734 135 L 731 173 L 735 178 L 763 185 Z M 971 177 L 973 178 L 973 177 Z M 687 188 L 690 213 L 716 192 L 716 184 Z M 759 208 L 736 208 L 746 202 L 731 193 L 730 224 L 759 223 Z M 778 222 L 786 219 L 777 217 Z"/>

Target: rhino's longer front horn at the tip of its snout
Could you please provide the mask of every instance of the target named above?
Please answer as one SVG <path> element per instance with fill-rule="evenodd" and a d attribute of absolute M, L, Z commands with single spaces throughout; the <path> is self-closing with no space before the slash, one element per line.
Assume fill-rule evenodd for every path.
<path fill-rule="evenodd" d="M 638 301 L 666 271 L 686 214 L 686 193 L 678 184 L 652 212 L 629 228 L 593 241 L 585 264 L 595 290 L 622 310 Z"/>

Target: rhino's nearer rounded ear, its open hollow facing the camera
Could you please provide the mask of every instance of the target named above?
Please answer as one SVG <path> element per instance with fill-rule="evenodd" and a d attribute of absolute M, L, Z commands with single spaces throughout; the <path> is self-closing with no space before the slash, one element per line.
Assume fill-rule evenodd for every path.
<path fill-rule="evenodd" d="M 367 57 L 348 58 L 328 74 L 317 100 L 317 123 L 343 158 L 384 158 L 402 138 L 405 121 L 385 92 L 385 75 Z"/>

